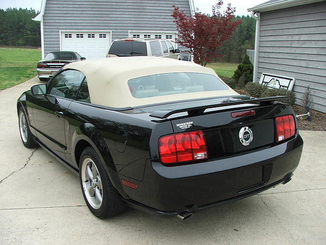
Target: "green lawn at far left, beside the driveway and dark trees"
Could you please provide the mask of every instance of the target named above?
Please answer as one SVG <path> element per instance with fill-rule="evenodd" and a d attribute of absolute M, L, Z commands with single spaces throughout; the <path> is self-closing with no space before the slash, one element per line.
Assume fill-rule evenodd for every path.
<path fill-rule="evenodd" d="M 41 50 L 0 47 L 0 90 L 35 77 L 39 60 Z"/>

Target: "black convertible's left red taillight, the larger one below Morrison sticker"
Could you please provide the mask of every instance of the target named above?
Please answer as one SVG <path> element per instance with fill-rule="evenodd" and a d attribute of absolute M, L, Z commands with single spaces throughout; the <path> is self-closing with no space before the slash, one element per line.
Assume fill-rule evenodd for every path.
<path fill-rule="evenodd" d="M 158 142 L 160 161 L 165 164 L 207 158 L 206 142 L 201 130 L 163 136 Z"/>

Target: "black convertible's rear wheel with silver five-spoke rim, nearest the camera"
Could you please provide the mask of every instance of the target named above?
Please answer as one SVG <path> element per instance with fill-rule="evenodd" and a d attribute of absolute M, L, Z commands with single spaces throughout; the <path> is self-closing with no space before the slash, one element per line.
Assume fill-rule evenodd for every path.
<path fill-rule="evenodd" d="M 95 216 L 107 218 L 125 210 L 125 202 L 113 187 L 101 159 L 91 147 L 86 148 L 80 157 L 79 180 L 85 202 Z"/>

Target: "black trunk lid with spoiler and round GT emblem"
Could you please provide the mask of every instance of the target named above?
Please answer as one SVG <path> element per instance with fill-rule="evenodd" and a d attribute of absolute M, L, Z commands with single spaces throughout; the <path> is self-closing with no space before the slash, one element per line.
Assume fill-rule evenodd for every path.
<path fill-rule="evenodd" d="M 190 102 L 188 108 L 182 107 L 182 102 L 165 105 L 164 110 L 154 111 L 151 116 L 170 120 L 173 133 L 202 130 L 211 159 L 274 144 L 275 117 L 287 114 L 288 107 L 273 102 L 285 99 L 281 96 L 262 99 L 234 96 L 199 101 L 194 107 L 189 106 L 194 104 Z M 243 131 L 248 131 L 248 128 L 251 135 L 249 143 L 244 140 L 246 143 L 243 137 L 249 135 L 244 135 Z"/>

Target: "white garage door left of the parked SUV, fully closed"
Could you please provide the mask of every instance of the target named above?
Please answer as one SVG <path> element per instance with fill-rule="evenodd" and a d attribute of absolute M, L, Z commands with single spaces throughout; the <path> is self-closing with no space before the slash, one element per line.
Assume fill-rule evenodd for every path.
<path fill-rule="evenodd" d="M 105 58 L 110 44 L 110 31 L 61 31 L 61 51 L 74 51 L 86 59 Z"/>

